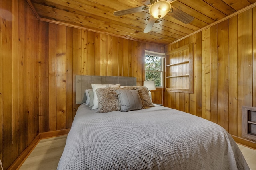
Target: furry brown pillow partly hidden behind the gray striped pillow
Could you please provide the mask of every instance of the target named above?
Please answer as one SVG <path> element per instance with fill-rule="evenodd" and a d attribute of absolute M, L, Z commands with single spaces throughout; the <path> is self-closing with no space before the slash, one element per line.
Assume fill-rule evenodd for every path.
<path fill-rule="evenodd" d="M 148 94 L 148 88 L 144 86 L 127 86 L 127 87 L 124 87 L 123 89 L 124 90 L 138 89 L 143 108 L 155 107 L 155 105 L 152 103 L 152 100 L 150 99 L 150 96 Z"/>

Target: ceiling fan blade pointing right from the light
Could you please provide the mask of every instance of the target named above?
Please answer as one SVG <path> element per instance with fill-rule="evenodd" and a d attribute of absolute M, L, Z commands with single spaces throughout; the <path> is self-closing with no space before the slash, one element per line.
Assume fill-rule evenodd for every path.
<path fill-rule="evenodd" d="M 175 8 L 172 6 L 172 12 L 169 12 L 168 15 L 172 16 L 173 18 L 188 24 L 190 22 L 192 22 L 194 20 L 194 17 L 190 16 L 189 14 L 187 14 L 186 12 L 183 12 L 182 10 L 179 10 L 178 8 Z"/>

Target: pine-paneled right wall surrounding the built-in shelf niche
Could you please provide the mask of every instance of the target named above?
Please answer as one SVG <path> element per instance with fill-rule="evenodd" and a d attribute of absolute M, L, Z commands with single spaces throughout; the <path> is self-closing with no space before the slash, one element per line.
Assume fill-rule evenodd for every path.
<path fill-rule="evenodd" d="M 165 106 L 218 123 L 242 137 L 242 106 L 256 107 L 255 20 L 253 8 L 167 45 L 166 51 L 171 51 L 194 43 L 194 93 L 165 92 Z M 250 146 L 256 148 L 255 143 Z"/>

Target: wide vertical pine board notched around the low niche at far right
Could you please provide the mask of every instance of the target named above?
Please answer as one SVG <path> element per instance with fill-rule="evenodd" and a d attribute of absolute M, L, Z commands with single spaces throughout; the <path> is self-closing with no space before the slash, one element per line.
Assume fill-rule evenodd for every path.
<path fill-rule="evenodd" d="M 250 9 L 238 14 L 239 137 L 242 136 L 242 106 L 252 106 L 252 75 L 252 9 Z"/>

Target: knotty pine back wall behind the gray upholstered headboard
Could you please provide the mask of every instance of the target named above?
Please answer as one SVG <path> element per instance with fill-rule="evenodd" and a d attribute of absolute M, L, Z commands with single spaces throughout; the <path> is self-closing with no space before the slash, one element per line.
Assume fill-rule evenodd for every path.
<path fill-rule="evenodd" d="M 75 76 L 132 76 L 144 81 L 144 51 L 164 46 L 49 23 L 49 57 L 39 58 L 39 132 L 70 128 L 76 109 Z M 47 52 L 46 52 L 47 53 Z M 41 94 L 41 93 L 40 93 Z"/>

